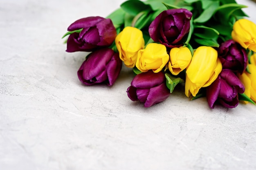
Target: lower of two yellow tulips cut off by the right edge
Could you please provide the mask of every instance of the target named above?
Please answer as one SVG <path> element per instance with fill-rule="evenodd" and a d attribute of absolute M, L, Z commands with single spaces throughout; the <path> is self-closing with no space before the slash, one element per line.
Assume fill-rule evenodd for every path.
<path fill-rule="evenodd" d="M 251 74 L 245 71 L 243 74 L 238 74 L 238 78 L 245 86 L 245 94 L 256 102 L 256 65 L 248 64 L 248 67 Z"/>

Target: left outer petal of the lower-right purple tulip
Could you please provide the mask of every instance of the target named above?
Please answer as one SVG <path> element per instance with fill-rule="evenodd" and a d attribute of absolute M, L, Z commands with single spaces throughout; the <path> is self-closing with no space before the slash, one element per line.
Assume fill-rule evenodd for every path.
<path fill-rule="evenodd" d="M 221 89 L 220 76 L 211 84 L 211 86 L 207 87 L 206 90 L 206 98 L 208 101 L 208 105 L 211 109 L 214 108 L 214 104 L 218 99 L 219 93 Z"/>

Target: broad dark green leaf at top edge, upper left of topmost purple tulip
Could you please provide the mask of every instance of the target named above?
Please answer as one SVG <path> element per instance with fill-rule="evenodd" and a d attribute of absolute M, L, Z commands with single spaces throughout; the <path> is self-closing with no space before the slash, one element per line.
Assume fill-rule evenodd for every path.
<path fill-rule="evenodd" d="M 128 0 L 121 4 L 121 8 L 130 15 L 137 15 L 141 11 L 151 11 L 151 6 L 140 0 Z"/>

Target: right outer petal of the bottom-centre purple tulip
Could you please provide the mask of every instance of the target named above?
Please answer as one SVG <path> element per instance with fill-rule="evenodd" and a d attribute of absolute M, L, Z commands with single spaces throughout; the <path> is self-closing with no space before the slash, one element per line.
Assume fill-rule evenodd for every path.
<path fill-rule="evenodd" d="M 150 107 L 159 102 L 162 102 L 166 100 L 166 98 L 168 98 L 169 96 L 170 96 L 169 89 L 166 87 L 165 83 L 162 83 L 161 85 L 157 87 L 153 87 L 149 90 L 149 94 L 144 104 L 144 107 Z"/>

